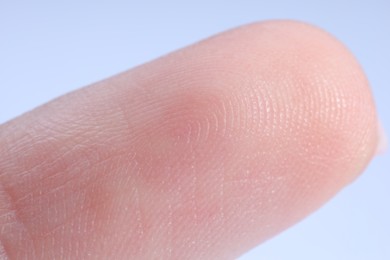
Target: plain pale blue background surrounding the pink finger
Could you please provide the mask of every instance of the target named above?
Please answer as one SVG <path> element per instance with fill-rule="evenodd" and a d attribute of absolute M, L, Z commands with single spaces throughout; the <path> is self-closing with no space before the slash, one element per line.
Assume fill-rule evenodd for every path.
<path fill-rule="evenodd" d="M 248 22 L 316 24 L 357 56 L 390 130 L 390 1 L 0 0 L 0 123 L 63 93 Z M 390 160 L 241 259 L 390 259 Z"/>

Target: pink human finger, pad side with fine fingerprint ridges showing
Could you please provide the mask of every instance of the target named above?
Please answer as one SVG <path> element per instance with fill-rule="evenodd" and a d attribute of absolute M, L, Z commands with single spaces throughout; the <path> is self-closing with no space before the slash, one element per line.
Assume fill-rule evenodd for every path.
<path fill-rule="evenodd" d="M 10 259 L 233 259 L 316 210 L 377 146 L 339 42 L 272 21 L 212 37 L 0 126 Z"/>

